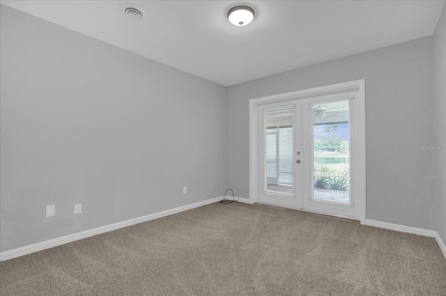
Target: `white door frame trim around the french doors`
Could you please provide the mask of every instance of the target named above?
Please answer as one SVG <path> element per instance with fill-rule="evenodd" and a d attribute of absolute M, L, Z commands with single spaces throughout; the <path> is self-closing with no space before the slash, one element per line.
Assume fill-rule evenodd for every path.
<path fill-rule="evenodd" d="M 355 159 L 357 170 L 355 174 L 356 195 L 364 197 L 357 204 L 360 208 L 360 222 L 365 223 L 366 219 L 366 182 L 365 182 L 365 81 L 349 81 L 332 85 L 321 86 L 318 88 L 309 88 L 307 90 L 298 90 L 295 92 L 286 92 L 284 94 L 273 94 L 268 97 L 259 97 L 249 100 L 249 203 L 254 204 L 259 199 L 259 105 L 273 103 L 277 101 L 286 101 L 290 99 L 302 99 L 307 97 L 319 96 L 323 94 L 333 94 L 336 92 L 345 92 L 348 90 L 359 91 L 359 98 L 355 104 L 359 104 L 360 114 L 357 122 L 357 131 L 364 137 L 358 139 L 357 151 L 358 158 Z"/>

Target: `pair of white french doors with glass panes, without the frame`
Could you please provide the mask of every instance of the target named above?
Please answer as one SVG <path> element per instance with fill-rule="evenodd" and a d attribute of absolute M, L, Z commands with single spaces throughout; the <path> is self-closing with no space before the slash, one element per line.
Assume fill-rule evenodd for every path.
<path fill-rule="evenodd" d="M 358 97 L 354 90 L 259 104 L 259 202 L 360 219 Z"/>

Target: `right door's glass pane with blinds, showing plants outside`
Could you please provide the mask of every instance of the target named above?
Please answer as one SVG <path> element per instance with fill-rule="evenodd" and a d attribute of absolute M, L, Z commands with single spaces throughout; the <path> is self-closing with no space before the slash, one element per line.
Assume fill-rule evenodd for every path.
<path fill-rule="evenodd" d="M 313 105 L 313 198 L 350 204 L 348 101 Z"/>

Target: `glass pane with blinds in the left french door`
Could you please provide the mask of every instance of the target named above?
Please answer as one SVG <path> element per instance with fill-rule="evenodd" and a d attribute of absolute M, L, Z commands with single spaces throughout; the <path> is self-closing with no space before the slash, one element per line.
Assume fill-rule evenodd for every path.
<path fill-rule="evenodd" d="M 293 108 L 267 110 L 266 190 L 293 194 Z"/>

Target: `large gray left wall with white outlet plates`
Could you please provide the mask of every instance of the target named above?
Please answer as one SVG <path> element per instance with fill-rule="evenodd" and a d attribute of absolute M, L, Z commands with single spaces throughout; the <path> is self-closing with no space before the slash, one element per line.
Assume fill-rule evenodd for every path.
<path fill-rule="evenodd" d="M 0 35 L 1 252 L 223 195 L 226 88 L 6 6 Z"/>

